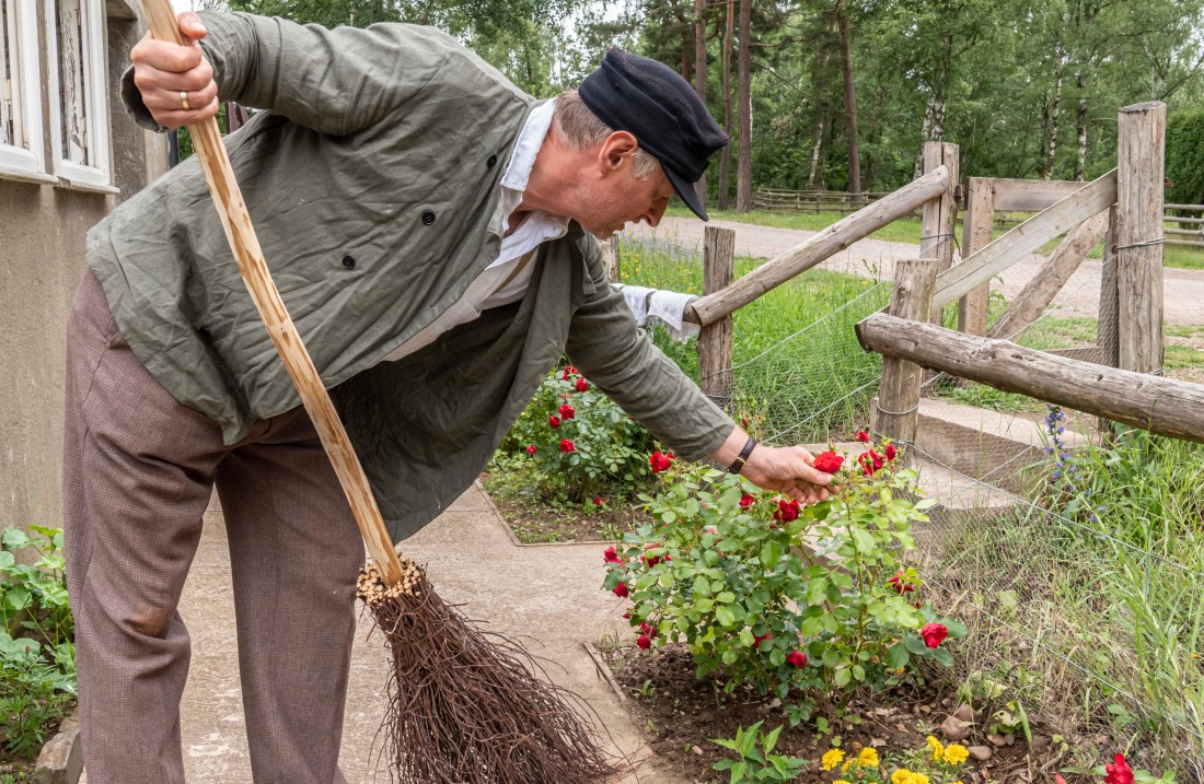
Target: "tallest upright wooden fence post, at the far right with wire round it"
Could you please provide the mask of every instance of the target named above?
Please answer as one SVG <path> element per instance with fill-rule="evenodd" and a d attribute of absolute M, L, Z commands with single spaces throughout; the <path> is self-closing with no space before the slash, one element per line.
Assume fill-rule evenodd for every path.
<path fill-rule="evenodd" d="M 1167 105 L 1120 111 L 1116 144 L 1117 358 L 1123 370 L 1162 372 L 1162 191 Z"/>

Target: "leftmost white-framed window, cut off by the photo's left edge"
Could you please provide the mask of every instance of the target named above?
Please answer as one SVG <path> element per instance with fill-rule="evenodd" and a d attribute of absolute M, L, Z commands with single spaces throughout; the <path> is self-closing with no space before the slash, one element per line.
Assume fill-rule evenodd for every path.
<path fill-rule="evenodd" d="M 0 0 L 0 177 L 53 180 L 45 160 L 36 0 Z"/>

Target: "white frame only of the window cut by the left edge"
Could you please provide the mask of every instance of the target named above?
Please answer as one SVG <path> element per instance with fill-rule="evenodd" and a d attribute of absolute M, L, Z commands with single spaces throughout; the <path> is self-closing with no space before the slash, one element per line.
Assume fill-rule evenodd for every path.
<path fill-rule="evenodd" d="M 40 183 L 58 182 L 46 171 L 42 141 L 41 52 L 37 35 L 37 0 L 6 0 L 16 36 L 10 36 L 8 59 L 16 69 L 11 83 L 13 126 L 19 143 L 0 142 L 0 178 Z"/>

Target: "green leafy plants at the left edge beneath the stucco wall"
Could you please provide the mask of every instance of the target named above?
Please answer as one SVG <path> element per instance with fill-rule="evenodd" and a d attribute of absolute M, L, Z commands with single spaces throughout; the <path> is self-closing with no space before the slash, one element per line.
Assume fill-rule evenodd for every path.
<path fill-rule="evenodd" d="M 0 535 L 0 737 L 34 756 L 75 700 L 75 623 L 67 606 L 63 531 L 37 525 Z M 33 564 L 18 554 L 37 557 Z"/>

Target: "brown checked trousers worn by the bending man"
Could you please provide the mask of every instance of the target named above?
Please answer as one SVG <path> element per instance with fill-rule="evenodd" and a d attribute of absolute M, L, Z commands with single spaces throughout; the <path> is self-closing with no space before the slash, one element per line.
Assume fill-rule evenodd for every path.
<path fill-rule="evenodd" d="M 305 411 L 224 445 L 130 351 L 90 272 L 67 340 L 64 529 L 89 784 L 184 780 L 177 605 L 214 483 L 254 780 L 343 784 L 364 545 Z"/>

